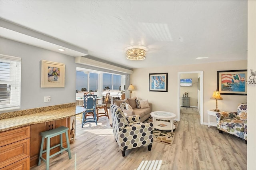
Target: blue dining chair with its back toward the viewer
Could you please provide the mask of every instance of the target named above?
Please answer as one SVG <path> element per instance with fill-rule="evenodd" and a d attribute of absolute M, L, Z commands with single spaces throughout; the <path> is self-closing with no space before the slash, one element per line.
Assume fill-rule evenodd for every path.
<path fill-rule="evenodd" d="M 84 127 L 85 123 L 95 122 L 97 125 L 97 116 L 96 116 L 96 99 L 97 95 L 84 95 L 84 108 L 85 111 L 83 113 L 82 118 L 82 127 Z M 88 117 L 92 116 L 92 117 Z"/>

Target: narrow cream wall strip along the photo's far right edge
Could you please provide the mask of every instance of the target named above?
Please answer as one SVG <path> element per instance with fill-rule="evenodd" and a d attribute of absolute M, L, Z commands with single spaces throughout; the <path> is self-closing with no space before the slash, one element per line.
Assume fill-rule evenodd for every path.
<path fill-rule="evenodd" d="M 256 71 L 256 1 L 248 0 L 248 76 Z M 256 85 L 248 85 L 247 169 L 256 170 Z"/>

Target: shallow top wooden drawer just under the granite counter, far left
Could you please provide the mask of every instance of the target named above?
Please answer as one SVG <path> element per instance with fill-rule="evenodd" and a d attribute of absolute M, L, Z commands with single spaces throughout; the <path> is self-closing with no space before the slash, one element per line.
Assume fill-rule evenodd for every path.
<path fill-rule="evenodd" d="M 0 133 L 0 147 L 26 138 L 30 138 L 30 126 Z"/>

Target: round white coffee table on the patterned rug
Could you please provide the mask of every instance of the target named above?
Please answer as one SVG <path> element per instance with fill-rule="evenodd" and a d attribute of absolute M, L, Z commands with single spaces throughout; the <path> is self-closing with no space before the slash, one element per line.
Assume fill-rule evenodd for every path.
<path fill-rule="evenodd" d="M 173 125 L 173 119 L 176 117 L 174 113 L 170 112 L 164 112 L 164 111 L 156 111 L 151 112 L 150 115 L 153 118 L 153 129 L 159 129 L 159 130 L 172 130 L 175 129 L 175 125 Z M 170 120 L 170 122 L 165 121 L 156 121 L 156 119 L 160 120 Z"/>

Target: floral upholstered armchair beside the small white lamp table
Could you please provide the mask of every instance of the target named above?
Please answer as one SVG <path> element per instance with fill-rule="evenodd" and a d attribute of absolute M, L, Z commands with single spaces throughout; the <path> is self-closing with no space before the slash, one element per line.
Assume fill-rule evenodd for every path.
<path fill-rule="evenodd" d="M 217 128 L 220 133 L 228 132 L 247 143 L 247 104 L 239 104 L 237 112 L 216 113 Z"/>

